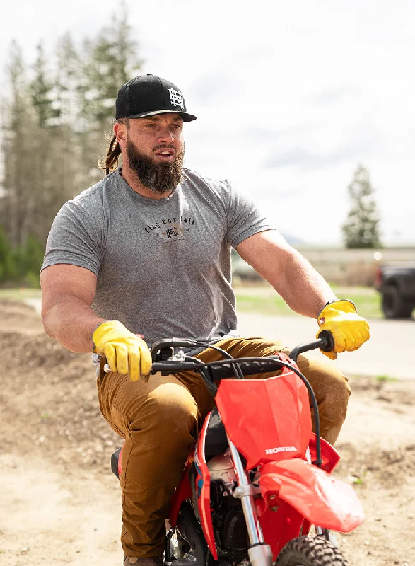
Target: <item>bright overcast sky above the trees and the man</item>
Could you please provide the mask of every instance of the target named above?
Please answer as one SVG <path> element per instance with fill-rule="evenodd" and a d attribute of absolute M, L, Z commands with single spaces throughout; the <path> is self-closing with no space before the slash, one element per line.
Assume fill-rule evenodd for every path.
<path fill-rule="evenodd" d="M 117 3 L 2 2 L 0 65 L 44 40 L 94 37 Z M 6 4 L 6 7 L 4 5 Z M 414 0 L 129 0 L 143 74 L 175 83 L 186 165 L 228 178 L 279 229 L 341 242 L 347 185 L 370 171 L 385 243 L 415 243 Z"/>

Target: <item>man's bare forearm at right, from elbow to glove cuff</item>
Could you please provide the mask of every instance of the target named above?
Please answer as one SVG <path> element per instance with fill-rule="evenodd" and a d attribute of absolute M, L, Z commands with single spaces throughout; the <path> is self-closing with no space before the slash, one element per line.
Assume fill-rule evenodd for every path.
<path fill-rule="evenodd" d="M 337 299 L 320 273 L 296 250 L 288 255 L 284 267 L 271 283 L 296 313 L 317 318 L 327 301 Z"/>

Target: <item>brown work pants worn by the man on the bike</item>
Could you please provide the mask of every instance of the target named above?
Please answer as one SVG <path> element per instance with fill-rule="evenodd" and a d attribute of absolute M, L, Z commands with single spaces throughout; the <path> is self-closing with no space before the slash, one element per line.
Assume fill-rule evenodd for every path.
<path fill-rule="evenodd" d="M 235 358 L 289 352 L 279 342 L 259 338 L 226 339 L 217 345 Z M 221 354 L 204 350 L 197 357 L 212 362 L 221 359 Z M 321 435 L 334 444 L 346 417 L 347 379 L 329 359 L 301 355 L 298 366 L 315 391 Z M 214 399 L 200 376 L 192 372 L 155 374 L 148 383 L 131 381 L 122 374 L 101 374 L 98 398 L 103 416 L 125 439 L 121 475 L 124 555 L 160 555 L 170 497 Z"/>

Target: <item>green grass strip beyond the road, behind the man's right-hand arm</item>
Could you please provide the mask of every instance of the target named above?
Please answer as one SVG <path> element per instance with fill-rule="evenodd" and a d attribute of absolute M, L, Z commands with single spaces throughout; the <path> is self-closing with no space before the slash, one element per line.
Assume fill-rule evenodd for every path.
<path fill-rule="evenodd" d="M 334 287 L 340 299 L 350 299 L 364 318 L 382 318 L 380 295 L 370 287 Z M 239 311 L 252 311 L 274 316 L 296 315 L 271 286 L 235 287 L 236 306 Z"/>

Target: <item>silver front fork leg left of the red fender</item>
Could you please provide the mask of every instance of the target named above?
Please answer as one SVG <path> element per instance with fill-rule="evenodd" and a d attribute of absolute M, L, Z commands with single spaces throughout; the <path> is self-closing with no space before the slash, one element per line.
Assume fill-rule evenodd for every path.
<path fill-rule="evenodd" d="M 254 487 L 247 478 L 247 473 L 243 467 L 238 449 L 228 437 L 230 455 L 238 476 L 238 486 L 233 490 L 233 497 L 240 499 L 242 511 L 245 516 L 247 532 L 250 538 L 250 548 L 248 555 L 252 566 L 271 566 L 272 551 L 271 546 L 264 541 L 261 526 L 258 521 L 257 509 L 254 503 Z"/>

